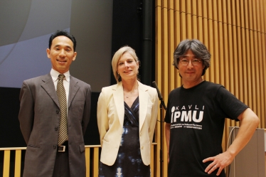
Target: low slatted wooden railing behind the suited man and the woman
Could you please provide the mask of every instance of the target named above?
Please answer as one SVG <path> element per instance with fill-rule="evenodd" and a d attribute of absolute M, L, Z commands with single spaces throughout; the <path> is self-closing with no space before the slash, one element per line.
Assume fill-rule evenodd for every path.
<path fill-rule="evenodd" d="M 154 151 L 154 145 L 151 146 L 151 154 L 156 154 Z M 16 147 L 16 148 L 0 148 L 0 151 L 4 151 L 4 166 L 3 166 L 3 177 L 10 176 L 10 164 L 11 164 L 11 151 L 15 153 L 14 159 L 14 177 L 21 177 L 21 154 L 23 151 L 26 151 L 26 147 Z M 85 146 L 85 158 L 86 158 L 86 176 L 97 177 L 98 168 L 99 168 L 99 154 L 100 154 L 100 145 L 86 145 Z M 0 159 L 1 161 L 1 159 Z M 156 170 L 154 169 L 154 163 L 156 158 L 154 155 L 151 155 L 151 176 L 154 176 Z M 1 164 L 1 163 L 0 163 Z M 156 163 L 155 163 L 156 164 Z M 0 174 L 1 176 L 1 174 Z M 12 175 L 13 176 L 13 175 Z M 156 176 L 156 175 L 155 175 Z"/>

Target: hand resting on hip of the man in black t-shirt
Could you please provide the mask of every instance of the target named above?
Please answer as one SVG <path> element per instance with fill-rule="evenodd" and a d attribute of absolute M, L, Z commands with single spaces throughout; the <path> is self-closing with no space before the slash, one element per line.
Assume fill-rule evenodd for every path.
<path fill-rule="evenodd" d="M 220 172 L 225 168 L 225 166 L 228 166 L 234 159 L 234 156 L 232 156 L 228 151 L 225 151 L 222 154 L 218 154 L 217 156 L 208 157 L 207 159 L 203 160 L 203 163 L 206 163 L 207 161 L 213 161 L 210 163 L 207 168 L 205 169 L 205 172 L 208 174 L 213 173 L 218 168 L 218 172 L 216 175 L 220 175 Z"/>

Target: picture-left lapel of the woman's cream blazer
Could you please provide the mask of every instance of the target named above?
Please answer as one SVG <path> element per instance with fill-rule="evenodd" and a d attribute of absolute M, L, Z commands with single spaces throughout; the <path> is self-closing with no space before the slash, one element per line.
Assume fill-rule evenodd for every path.
<path fill-rule="evenodd" d="M 118 119 L 120 126 L 123 127 L 124 124 L 124 94 L 122 82 L 117 84 L 117 87 L 112 88 L 112 92 L 115 100 L 115 107 L 117 108 Z"/>

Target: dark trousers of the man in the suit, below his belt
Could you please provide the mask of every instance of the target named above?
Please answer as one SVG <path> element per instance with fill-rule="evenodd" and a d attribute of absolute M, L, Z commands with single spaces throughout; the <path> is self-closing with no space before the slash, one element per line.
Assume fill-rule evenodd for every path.
<path fill-rule="evenodd" d="M 63 145 L 68 143 L 64 143 Z M 53 177 L 70 177 L 68 146 L 65 152 L 57 152 L 55 158 L 55 168 L 53 169 Z"/>

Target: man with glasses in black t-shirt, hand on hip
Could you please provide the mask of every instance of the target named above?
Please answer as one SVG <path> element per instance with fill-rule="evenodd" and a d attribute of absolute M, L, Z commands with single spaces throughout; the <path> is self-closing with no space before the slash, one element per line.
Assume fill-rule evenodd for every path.
<path fill-rule="evenodd" d="M 183 85 L 169 94 L 166 109 L 168 176 L 223 176 L 255 132 L 257 115 L 222 85 L 203 81 L 211 54 L 198 40 L 184 40 L 174 52 Z M 225 118 L 241 121 L 238 136 L 223 152 Z"/>

